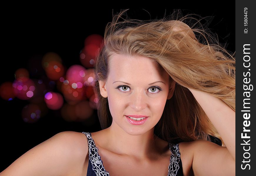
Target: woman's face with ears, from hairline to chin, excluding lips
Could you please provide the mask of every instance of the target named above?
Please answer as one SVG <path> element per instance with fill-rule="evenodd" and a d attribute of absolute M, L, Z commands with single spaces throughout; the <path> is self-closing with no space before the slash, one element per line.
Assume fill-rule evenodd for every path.
<path fill-rule="evenodd" d="M 99 81 L 99 86 L 101 95 L 108 97 L 112 125 L 116 123 L 120 130 L 139 135 L 151 130 L 160 120 L 175 82 L 170 82 L 168 73 L 159 71 L 157 63 L 148 57 L 114 54 L 109 59 L 107 81 Z M 143 124 L 134 125 L 127 119 L 128 115 L 148 118 Z"/>

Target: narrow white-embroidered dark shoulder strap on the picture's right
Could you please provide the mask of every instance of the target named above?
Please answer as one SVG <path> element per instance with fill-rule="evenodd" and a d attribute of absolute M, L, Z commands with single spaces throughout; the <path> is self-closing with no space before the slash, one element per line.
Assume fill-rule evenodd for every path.
<path fill-rule="evenodd" d="M 170 158 L 168 176 L 176 176 L 178 173 L 178 170 L 180 169 L 180 166 L 179 166 L 179 160 L 180 160 L 179 144 L 169 143 L 169 148 L 172 152 L 172 155 Z"/>

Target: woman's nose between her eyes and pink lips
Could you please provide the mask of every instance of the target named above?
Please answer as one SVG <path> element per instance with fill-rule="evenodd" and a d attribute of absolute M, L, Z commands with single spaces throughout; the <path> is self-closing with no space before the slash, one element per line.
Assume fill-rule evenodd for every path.
<path fill-rule="evenodd" d="M 147 107 L 147 95 L 143 90 L 135 90 L 131 94 L 130 104 L 135 111 L 141 111 Z"/>

